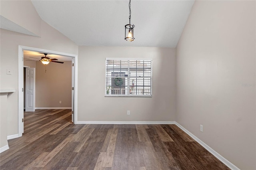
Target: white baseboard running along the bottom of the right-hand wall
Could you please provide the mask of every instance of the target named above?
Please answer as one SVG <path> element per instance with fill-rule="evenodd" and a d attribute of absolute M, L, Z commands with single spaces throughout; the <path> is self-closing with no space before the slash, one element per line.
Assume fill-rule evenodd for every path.
<path fill-rule="evenodd" d="M 234 164 L 232 164 L 231 162 L 229 162 L 228 160 L 226 160 L 223 156 L 221 156 L 220 154 L 218 154 L 218 152 L 216 152 L 215 150 L 213 150 L 210 146 L 208 146 L 207 144 L 205 144 L 202 140 L 200 140 L 199 138 L 197 138 L 194 134 L 192 134 L 191 132 L 189 132 L 188 130 L 186 130 L 184 127 L 182 127 L 180 124 L 178 124 L 177 122 L 175 122 L 175 125 L 177 125 L 181 130 L 183 130 L 184 132 L 186 132 L 186 134 L 188 134 L 190 137 L 192 137 L 194 140 L 196 140 L 196 142 L 198 142 L 201 146 L 203 146 L 206 150 L 208 150 L 211 154 L 213 154 L 213 156 L 215 156 L 218 160 L 220 160 L 223 164 L 225 164 L 226 166 L 228 166 L 228 168 L 230 168 L 231 170 L 240 170 L 239 168 L 237 168 Z"/>

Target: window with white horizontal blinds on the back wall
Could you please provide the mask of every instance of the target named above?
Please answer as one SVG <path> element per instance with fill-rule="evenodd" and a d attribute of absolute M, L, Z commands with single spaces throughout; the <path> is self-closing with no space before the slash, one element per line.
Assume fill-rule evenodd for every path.
<path fill-rule="evenodd" d="M 105 96 L 152 96 L 152 60 L 106 58 Z"/>

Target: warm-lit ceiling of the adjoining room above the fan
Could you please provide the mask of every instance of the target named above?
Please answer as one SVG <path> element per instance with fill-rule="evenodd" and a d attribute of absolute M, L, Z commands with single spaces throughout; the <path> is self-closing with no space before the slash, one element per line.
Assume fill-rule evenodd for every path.
<path fill-rule="evenodd" d="M 33 60 L 33 61 L 39 61 L 41 57 L 44 57 L 45 55 L 43 53 L 35 52 L 35 51 L 23 51 L 23 56 L 26 61 Z M 58 61 L 72 61 L 72 57 L 65 57 L 62 55 L 55 55 L 55 54 L 47 54 L 47 57 L 50 59 L 56 58 Z"/>

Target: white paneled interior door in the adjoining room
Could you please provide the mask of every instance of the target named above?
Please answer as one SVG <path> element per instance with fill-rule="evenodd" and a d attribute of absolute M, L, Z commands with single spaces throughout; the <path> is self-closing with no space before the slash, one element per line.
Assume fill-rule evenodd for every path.
<path fill-rule="evenodd" d="M 25 87 L 25 111 L 35 111 L 35 86 L 36 86 L 36 69 L 26 68 L 26 87 Z"/>

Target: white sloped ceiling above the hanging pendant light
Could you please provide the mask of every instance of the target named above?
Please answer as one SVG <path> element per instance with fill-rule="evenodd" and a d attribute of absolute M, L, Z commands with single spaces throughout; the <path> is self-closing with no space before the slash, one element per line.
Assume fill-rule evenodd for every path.
<path fill-rule="evenodd" d="M 39 16 L 78 45 L 176 47 L 194 0 L 32 0 Z"/>

